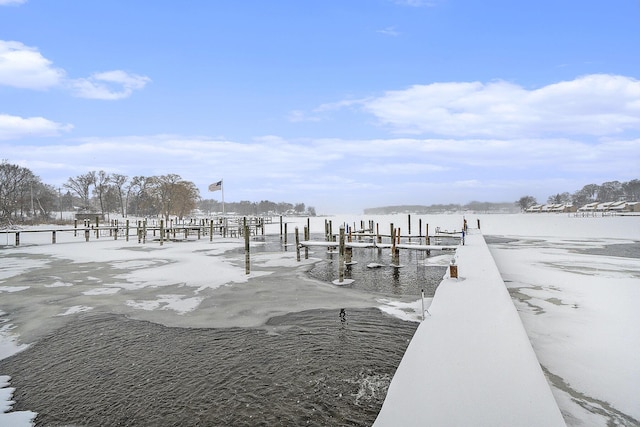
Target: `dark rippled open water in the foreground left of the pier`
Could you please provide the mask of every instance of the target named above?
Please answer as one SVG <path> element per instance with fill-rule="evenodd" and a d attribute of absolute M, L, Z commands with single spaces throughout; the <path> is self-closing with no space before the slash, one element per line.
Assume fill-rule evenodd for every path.
<path fill-rule="evenodd" d="M 46 426 L 369 426 L 416 323 L 312 310 L 264 329 L 80 316 L 0 361 Z"/>

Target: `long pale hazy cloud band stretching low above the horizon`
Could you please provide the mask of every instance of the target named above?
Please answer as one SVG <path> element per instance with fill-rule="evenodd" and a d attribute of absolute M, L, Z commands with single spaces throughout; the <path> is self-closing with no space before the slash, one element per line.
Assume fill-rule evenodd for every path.
<path fill-rule="evenodd" d="M 1 134 L 1 133 L 0 133 Z M 126 151 L 126 156 L 114 155 Z M 0 141 L 0 152 L 59 184 L 90 170 L 176 173 L 206 186 L 225 180 L 229 201 L 304 202 L 319 212 L 381 204 L 509 201 L 547 197 L 588 183 L 637 178 L 640 138 L 304 139 L 238 142 L 181 135 Z M 169 159 L 169 160 L 168 160 Z"/>

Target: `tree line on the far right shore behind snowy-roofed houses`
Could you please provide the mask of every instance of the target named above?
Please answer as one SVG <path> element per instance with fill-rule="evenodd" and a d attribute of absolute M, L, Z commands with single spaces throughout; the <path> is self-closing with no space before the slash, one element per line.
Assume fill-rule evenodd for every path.
<path fill-rule="evenodd" d="M 640 180 L 609 181 L 600 185 L 588 184 L 573 194 L 568 192 L 553 194 L 547 198 L 547 203 L 572 204 L 580 207 L 594 202 L 606 203 L 620 200 L 640 201 Z M 522 210 L 539 204 L 533 196 L 522 196 L 515 203 Z"/>

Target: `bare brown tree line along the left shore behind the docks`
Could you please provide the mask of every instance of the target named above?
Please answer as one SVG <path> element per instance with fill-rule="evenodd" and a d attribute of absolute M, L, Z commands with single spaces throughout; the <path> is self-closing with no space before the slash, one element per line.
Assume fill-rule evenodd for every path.
<path fill-rule="evenodd" d="M 0 225 L 48 221 L 56 212 L 118 214 L 122 217 L 170 216 L 183 218 L 194 209 L 222 212 L 216 200 L 201 200 L 196 185 L 177 174 L 134 176 L 90 171 L 69 178 L 61 187 L 43 183 L 28 168 L 0 162 Z M 226 203 L 227 212 L 241 215 L 301 213 L 304 203 Z M 306 208 L 315 213 L 314 208 Z"/>

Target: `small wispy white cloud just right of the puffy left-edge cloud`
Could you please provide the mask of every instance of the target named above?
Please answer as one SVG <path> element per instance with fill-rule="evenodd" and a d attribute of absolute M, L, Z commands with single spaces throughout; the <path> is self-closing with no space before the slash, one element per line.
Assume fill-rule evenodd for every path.
<path fill-rule="evenodd" d="M 134 90 L 142 89 L 151 79 L 122 70 L 95 73 L 86 79 L 69 82 L 80 98 L 115 100 L 131 96 Z"/>

